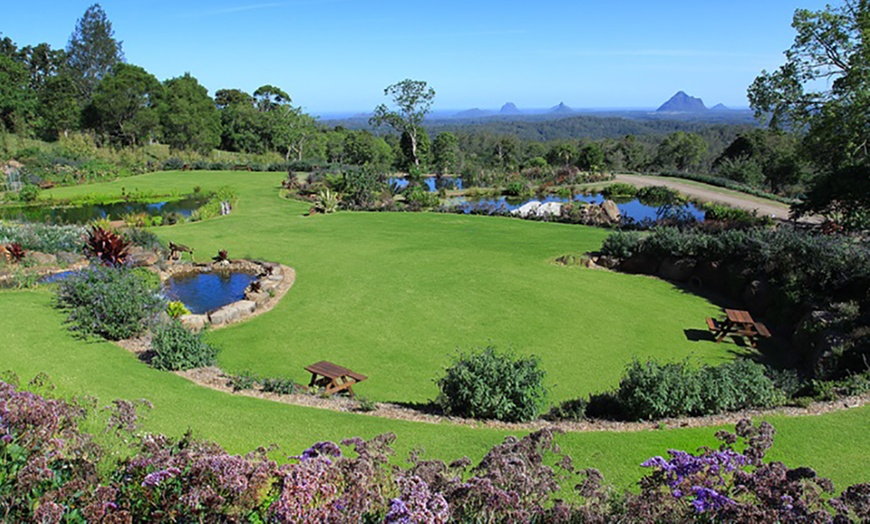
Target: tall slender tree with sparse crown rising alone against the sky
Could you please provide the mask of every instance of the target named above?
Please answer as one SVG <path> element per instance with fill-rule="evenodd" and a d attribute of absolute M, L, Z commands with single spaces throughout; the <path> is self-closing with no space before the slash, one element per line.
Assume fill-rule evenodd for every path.
<path fill-rule="evenodd" d="M 375 108 L 375 114 L 369 119 L 375 127 L 384 124 L 392 127 L 402 135 L 407 135 L 409 141 L 408 164 L 419 168 L 418 139 L 422 130 L 423 119 L 432 107 L 435 90 L 421 80 L 405 79 L 397 84 L 387 86 L 384 95 L 393 99 L 396 109 L 389 109 L 381 104 Z"/>

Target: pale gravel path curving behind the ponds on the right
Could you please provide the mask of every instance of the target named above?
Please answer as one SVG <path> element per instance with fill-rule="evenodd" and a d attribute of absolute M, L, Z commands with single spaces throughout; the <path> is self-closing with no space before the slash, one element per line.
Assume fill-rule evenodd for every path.
<path fill-rule="evenodd" d="M 719 202 L 728 204 L 732 207 L 748 209 L 749 211 L 757 211 L 759 215 L 773 216 L 777 219 L 788 219 L 788 205 L 774 202 L 772 200 L 764 200 L 751 195 L 746 195 L 738 191 L 732 191 L 724 188 L 710 188 L 695 184 L 687 184 L 677 179 L 668 177 L 653 177 L 642 175 L 616 175 L 617 182 L 624 182 L 637 187 L 644 186 L 667 186 L 671 189 L 676 189 L 684 195 L 705 202 Z M 801 222 L 817 223 L 819 220 L 816 217 L 808 217 L 800 220 Z"/>

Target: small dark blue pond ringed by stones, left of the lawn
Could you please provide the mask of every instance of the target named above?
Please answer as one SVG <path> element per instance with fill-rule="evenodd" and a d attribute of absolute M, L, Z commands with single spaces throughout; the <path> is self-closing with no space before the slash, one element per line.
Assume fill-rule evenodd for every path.
<path fill-rule="evenodd" d="M 191 313 L 202 315 L 244 299 L 245 289 L 255 280 L 253 273 L 185 273 L 170 277 L 163 283 L 163 291 L 168 300 L 178 300 Z"/>

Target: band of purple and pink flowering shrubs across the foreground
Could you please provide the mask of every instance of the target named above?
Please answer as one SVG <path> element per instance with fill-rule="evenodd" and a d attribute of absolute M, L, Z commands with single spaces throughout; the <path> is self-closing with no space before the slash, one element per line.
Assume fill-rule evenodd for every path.
<path fill-rule="evenodd" d="M 46 389 L 38 376 L 30 387 Z M 737 424 L 722 444 L 671 450 L 644 466 L 640 492 L 603 487 L 594 469 L 576 470 L 540 430 L 508 437 L 471 467 L 412 454 L 390 466 L 391 434 L 318 442 L 290 462 L 271 449 L 230 455 L 217 444 L 143 433 L 145 401 L 102 411 L 92 399 L 64 401 L 0 381 L 0 515 L 4 522 L 850 522 L 870 518 L 870 484 L 832 497 L 810 468 L 765 462 L 774 430 Z M 82 431 L 107 412 L 111 457 Z M 92 424 L 88 424 L 91 426 Z M 110 448 L 111 449 L 111 448 Z M 572 501 L 554 499 L 566 482 Z"/>

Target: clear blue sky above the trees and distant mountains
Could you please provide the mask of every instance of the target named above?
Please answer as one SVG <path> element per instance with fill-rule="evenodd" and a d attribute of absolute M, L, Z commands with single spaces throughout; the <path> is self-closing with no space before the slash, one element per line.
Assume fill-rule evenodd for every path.
<path fill-rule="evenodd" d="M 91 0 L 0 0 L 0 33 L 65 47 Z M 654 108 L 679 90 L 746 107 L 820 0 L 104 0 L 127 61 L 213 94 L 287 91 L 313 113 L 370 111 L 404 78 L 435 109 Z M 833 3 L 836 3 L 834 0 Z"/>

